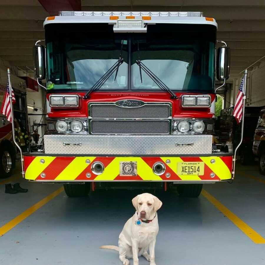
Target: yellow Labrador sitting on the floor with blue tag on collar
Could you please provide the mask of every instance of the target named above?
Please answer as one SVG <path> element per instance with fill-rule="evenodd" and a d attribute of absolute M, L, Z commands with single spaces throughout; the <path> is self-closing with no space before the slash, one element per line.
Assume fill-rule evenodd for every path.
<path fill-rule="evenodd" d="M 101 246 L 101 249 L 119 251 L 119 258 L 123 265 L 129 265 L 133 258 L 133 265 L 139 264 L 138 257 L 144 256 L 150 265 L 155 265 L 155 240 L 158 234 L 157 211 L 162 202 L 150 193 L 137 195 L 132 199 L 136 209 L 135 214 L 125 223 L 117 246 Z M 147 253 L 149 247 L 149 253 Z"/>

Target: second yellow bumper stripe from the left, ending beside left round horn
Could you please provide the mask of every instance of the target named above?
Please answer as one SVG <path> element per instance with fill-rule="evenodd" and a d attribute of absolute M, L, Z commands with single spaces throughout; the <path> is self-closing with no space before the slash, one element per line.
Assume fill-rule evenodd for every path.
<path fill-rule="evenodd" d="M 74 180 L 86 167 L 86 160 L 91 162 L 95 156 L 77 156 L 64 170 L 55 178 L 55 180 Z"/>

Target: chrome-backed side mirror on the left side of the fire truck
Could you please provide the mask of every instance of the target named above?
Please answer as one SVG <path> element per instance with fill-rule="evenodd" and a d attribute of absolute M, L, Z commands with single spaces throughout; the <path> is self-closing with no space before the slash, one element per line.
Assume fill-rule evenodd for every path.
<path fill-rule="evenodd" d="M 36 44 L 33 47 L 33 67 L 34 75 L 37 80 L 44 80 L 46 77 L 45 70 L 45 48 Z"/>

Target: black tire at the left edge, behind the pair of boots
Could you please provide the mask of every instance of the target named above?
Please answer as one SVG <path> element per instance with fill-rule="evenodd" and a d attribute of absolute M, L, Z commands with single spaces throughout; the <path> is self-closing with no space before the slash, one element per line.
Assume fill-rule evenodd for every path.
<path fill-rule="evenodd" d="M 0 178 L 9 178 L 14 168 L 13 159 L 14 150 L 8 145 L 2 145 L 0 148 Z"/>

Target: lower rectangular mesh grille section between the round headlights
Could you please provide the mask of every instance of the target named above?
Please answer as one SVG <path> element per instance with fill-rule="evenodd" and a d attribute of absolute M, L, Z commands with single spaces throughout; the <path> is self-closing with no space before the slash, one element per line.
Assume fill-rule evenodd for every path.
<path fill-rule="evenodd" d="M 92 134 L 169 134 L 169 120 L 91 120 Z"/>

